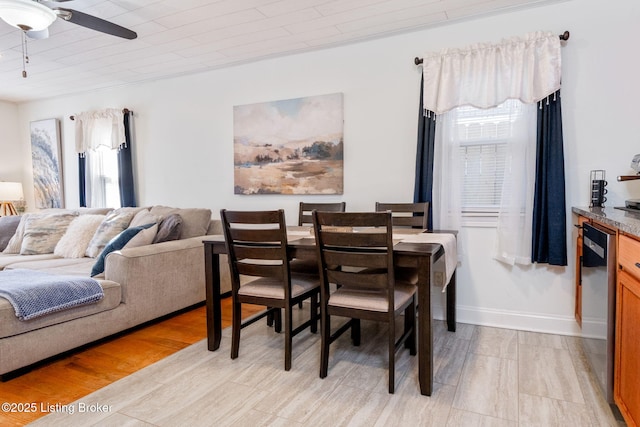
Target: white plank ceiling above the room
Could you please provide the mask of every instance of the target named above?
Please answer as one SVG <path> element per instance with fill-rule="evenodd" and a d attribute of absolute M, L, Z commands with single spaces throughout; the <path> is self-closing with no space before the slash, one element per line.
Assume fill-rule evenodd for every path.
<path fill-rule="evenodd" d="M 0 20 L 0 99 L 22 102 L 196 73 L 563 0 L 75 0 L 138 33 L 125 40 L 57 19 L 28 39 Z"/>

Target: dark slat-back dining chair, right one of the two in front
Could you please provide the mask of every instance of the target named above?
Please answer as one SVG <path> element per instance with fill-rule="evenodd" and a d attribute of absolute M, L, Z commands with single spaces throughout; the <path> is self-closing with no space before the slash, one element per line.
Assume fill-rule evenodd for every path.
<path fill-rule="evenodd" d="M 388 324 L 389 393 L 395 390 L 395 355 L 406 343 L 416 354 L 416 286 L 394 277 L 392 219 L 389 212 L 313 212 L 320 267 L 320 378 L 329 369 L 329 346 L 351 329 L 360 342 L 360 320 Z M 336 285 L 335 290 L 331 292 Z M 396 339 L 396 318 L 404 332 Z M 345 317 L 331 333 L 332 316 Z"/>

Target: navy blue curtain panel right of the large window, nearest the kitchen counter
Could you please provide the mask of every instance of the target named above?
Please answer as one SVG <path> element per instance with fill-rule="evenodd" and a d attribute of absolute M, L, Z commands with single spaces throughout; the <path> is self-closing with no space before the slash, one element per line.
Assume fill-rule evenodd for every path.
<path fill-rule="evenodd" d="M 567 221 L 560 91 L 538 109 L 531 261 L 567 265 Z"/>

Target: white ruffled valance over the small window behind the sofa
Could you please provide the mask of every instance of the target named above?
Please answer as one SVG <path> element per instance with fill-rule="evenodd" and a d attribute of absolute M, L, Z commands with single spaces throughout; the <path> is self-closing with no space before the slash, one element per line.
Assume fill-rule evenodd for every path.
<path fill-rule="evenodd" d="M 76 152 L 81 154 L 104 146 L 117 150 L 125 141 L 122 109 L 85 111 L 74 116 Z"/>

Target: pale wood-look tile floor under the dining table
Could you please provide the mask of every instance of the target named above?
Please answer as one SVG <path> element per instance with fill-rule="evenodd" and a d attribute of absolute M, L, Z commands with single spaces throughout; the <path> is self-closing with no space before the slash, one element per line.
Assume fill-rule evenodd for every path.
<path fill-rule="evenodd" d="M 624 426 L 597 389 L 577 338 L 457 329 L 434 322 L 430 397 L 419 394 L 417 358 L 407 351 L 396 360 L 396 393 L 387 393 L 382 326 L 363 322 L 359 348 L 346 335 L 334 343 L 329 375 L 320 379 L 319 335 L 294 338 L 286 372 L 282 335 L 258 322 L 242 331 L 236 360 L 225 330 L 216 352 L 203 340 L 32 425 Z"/>

